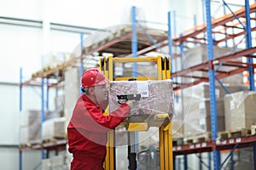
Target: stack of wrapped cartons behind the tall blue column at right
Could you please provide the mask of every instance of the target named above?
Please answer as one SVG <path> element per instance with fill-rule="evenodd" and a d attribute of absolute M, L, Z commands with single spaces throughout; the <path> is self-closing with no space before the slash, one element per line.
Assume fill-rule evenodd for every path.
<path fill-rule="evenodd" d="M 195 136 L 201 133 L 211 133 L 211 109 L 209 83 L 201 83 L 190 88 L 183 89 L 183 117 L 184 136 Z M 245 89 L 242 86 L 229 86 L 226 88 L 232 92 Z M 225 130 L 224 123 L 224 88 L 216 85 L 216 108 L 218 131 Z"/>

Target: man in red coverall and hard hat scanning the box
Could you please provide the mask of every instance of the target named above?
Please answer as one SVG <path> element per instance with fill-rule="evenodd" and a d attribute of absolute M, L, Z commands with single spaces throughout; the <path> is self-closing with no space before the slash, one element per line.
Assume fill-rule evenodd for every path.
<path fill-rule="evenodd" d="M 130 115 L 133 101 L 119 105 L 104 116 L 108 101 L 108 79 L 96 68 L 84 71 L 82 91 L 67 126 L 68 151 L 73 154 L 71 170 L 102 170 L 108 132 Z"/>

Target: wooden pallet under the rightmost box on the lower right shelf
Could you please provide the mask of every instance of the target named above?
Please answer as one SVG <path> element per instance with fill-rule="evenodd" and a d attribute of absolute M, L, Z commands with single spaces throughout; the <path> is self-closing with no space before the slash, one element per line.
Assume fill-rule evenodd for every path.
<path fill-rule="evenodd" d="M 230 139 L 230 138 L 239 138 L 242 136 L 247 136 L 252 134 L 251 128 L 242 128 L 237 130 L 228 130 L 224 132 L 218 132 L 219 139 Z"/>

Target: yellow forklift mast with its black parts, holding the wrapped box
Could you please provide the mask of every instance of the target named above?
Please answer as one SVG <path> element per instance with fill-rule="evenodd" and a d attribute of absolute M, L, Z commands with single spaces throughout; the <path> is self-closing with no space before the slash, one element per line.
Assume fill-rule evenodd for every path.
<path fill-rule="evenodd" d="M 125 63 L 141 63 L 141 62 L 152 62 L 157 65 L 156 77 L 115 77 L 114 69 L 115 64 L 125 64 Z M 147 81 L 147 80 L 165 80 L 171 78 L 171 59 L 166 56 L 157 57 L 146 57 L 146 58 L 113 58 L 104 57 L 100 59 L 99 67 L 105 77 L 108 77 L 110 81 L 124 81 L 131 80 L 132 78 L 137 81 Z M 109 108 L 108 108 L 109 109 Z M 125 127 L 128 133 L 132 134 L 140 131 L 147 131 L 148 127 L 159 127 L 159 156 L 160 156 L 160 170 L 172 170 L 172 116 L 169 114 L 157 114 L 151 116 L 150 124 L 148 122 L 132 122 L 131 119 L 126 119 L 124 121 Z M 115 131 L 108 133 L 108 144 L 107 144 L 107 155 L 105 160 L 106 170 L 115 170 Z M 131 138 L 132 139 L 132 138 Z M 129 166 L 128 169 L 137 169 L 137 160 L 134 150 L 128 145 L 128 159 Z"/>

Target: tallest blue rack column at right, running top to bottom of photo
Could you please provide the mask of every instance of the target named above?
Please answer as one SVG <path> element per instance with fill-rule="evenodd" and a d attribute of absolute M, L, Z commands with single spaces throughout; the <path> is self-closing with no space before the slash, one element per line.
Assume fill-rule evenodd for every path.
<path fill-rule="evenodd" d="M 211 20 L 211 2 L 206 0 L 207 14 L 207 49 L 208 49 L 208 67 L 209 67 L 209 82 L 210 82 L 210 108 L 211 108 L 211 127 L 212 127 L 212 150 L 213 150 L 213 165 L 214 170 L 218 170 L 220 165 L 220 154 L 216 148 L 216 138 L 218 132 L 216 97 L 215 97 L 215 75 L 213 59 L 213 42 L 212 42 L 212 20 Z"/>

